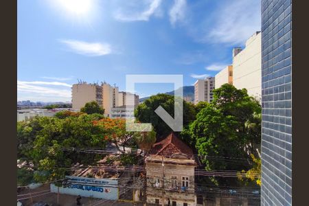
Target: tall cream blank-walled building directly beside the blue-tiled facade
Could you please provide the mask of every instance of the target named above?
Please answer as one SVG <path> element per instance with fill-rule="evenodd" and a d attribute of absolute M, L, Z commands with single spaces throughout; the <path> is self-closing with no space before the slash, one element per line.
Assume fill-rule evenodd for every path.
<path fill-rule="evenodd" d="M 260 100 L 261 68 L 261 32 L 255 32 L 244 49 L 233 49 L 233 85 L 247 89 L 249 95 Z"/>

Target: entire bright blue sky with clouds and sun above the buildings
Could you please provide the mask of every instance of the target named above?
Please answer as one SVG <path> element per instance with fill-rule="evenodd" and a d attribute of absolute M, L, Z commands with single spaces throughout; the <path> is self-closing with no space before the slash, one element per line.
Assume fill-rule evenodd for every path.
<path fill-rule="evenodd" d="M 183 74 L 192 85 L 260 30 L 260 0 L 19 0 L 17 11 L 18 100 L 71 101 L 78 79 L 125 90 L 126 74 Z"/>

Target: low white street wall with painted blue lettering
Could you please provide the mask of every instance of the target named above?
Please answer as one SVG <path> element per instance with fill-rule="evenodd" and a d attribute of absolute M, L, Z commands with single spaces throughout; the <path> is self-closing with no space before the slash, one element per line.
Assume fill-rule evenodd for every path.
<path fill-rule="evenodd" d="M 69 179 L 75 179 L 75 183 L 69 187 L 59 187 L 60 194 L 71 194 L 74 196 L 84 196 L 93 198 L 102 198 L 106 200 L 118 199 L 118 181 L 111 179 L 95 179 L 79 176 L 67 176 Z M 95 183 L 94 183 L 95 181 Z M 95 186 L 92 187 L 91 183 Z M 58 193 L 58 187 L 50 185 L 51 192 Z M 109 190 L 106 192 L 106 190 Z"/>

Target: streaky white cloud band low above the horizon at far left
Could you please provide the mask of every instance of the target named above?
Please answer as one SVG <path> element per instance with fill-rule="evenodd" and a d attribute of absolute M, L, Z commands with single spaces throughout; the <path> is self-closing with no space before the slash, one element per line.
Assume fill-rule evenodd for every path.
<path fill-rule="evenodd" d="M 17 80 L 17 95 L 18 99 L 32 101 L 71 101 L 71 89 L 67 89 L 67 87 L 71 87 L 71 85 L 62 82 Z"/>

